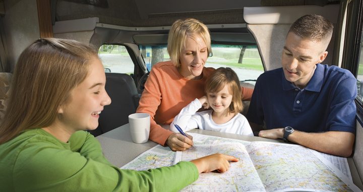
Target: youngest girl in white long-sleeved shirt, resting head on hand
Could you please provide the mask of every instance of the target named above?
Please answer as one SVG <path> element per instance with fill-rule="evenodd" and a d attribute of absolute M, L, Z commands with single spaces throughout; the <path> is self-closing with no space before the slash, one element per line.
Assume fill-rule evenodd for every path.
<path fill-rule="evenodd" d="M 230 68 L 218 68 L 206 82 L 206 95 L 195 99 L 175 116 L 170 130 L 194 128 L 254 136 L 243 110 L 237 74 Z M 200 108 L 212 110 L 197 112 Z"/>

